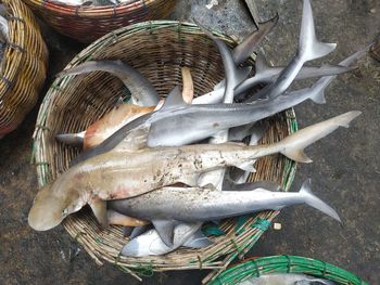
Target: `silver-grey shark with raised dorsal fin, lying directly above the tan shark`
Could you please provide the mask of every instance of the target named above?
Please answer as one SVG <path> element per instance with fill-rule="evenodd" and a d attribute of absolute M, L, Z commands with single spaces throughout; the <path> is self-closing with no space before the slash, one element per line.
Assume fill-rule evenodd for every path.
<path fill-rule="evenodd" d="M 314 89 L 312 89 L 314 90 Z M 294 91 L 276 99 L 266 99 L 250 104 L 186 104 L 179 88 L 167 96 L 159 111 L 145 114 L 122 127 L 97 147 L 81 153 L 71 161 L 74 166 L 80 161 L 106 153 L 123 141 L 130 141 L 136 129 L 149 128 L 148 146 L 178 146 L 210 138 L 220 130 L 251 124 L 278 112 L 293 107 L 311 99 L 316 103 L 325 102 L 322 94 L 309 92 L 309 89 Z M 292 95 L 289 95 L 292 94 Z M 183 132 L 182 130 L 187 130 Z"/>

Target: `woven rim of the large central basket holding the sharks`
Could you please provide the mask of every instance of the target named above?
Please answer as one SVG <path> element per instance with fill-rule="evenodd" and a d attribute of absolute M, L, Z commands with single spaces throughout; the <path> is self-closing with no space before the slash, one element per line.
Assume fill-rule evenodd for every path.
<path fill-rule="evenodd" d="M 66 68 L 71 68 L 71 67 L 73 67 L 73 66 L 75 66 L 84 61 L 93 60 L 91 57 L 91 54 L 94 51 L 99 51 L 101 49 L 104 49 L 105 47 L 107 47 L 107 44 L 113 44 L 114 42 L 117 41 L 118 37 L 122 37 L 122 36 L 132 37 L 132 36 L 136 36 L 136 34 L 138 34 L 138 33 L 144 33 L 145 35 L 149 31 L 160 33 L 160 29 L 170 29 L 170 30 L 174 30 L 174 31 L 180 34 L 181 36 L 185 36 L 186 33 L 188 33 L 189 35 L 194 34 L 197 36 L 199 36 L 199 35 L 204 36 L 203 31 L 201 31 L 197 25 L 191 24 L 191 23 L 186 23 L 186 22 L 150 21 L 150 22 L 144 22 L 144 23 L 138 23 L 138 24 L 135 24 L 131 26 L 127 26 L 127 27 L 123 27 L 121 29 L 117 29 L 117 30 L 110 33 L 110 34 L 103 36 L 102 38 L 98 39 L 92 44 L 90 44 L 85 50 L 83 50 L 79 54 L 77 54 L 73 59 L 73 61 L 66 66 Z M 225 36 L 218 31 L 214 31 L 214 35 L 219 37 L 220 39 L 227 41 L 228 43 L 232 43 L 232 44 L 236 43 L 236 40 L 233 39 L 233 37 Z M 43 160 L 43 157 L 40 156 L 40 153 L 45 152 L 45 150 L 42 150 L 43 143 L 40 141 L 40 138 L 43 139 L 43 132 L 46 131 L 43 128 L 48 128 L 46 126 L 46 120 L 47 120 L 49 108 L 51 107 L 50 102 L 53 101 L 54 96 L 59 95 L 59 92 L 56 90 L 64 89 L 65 86 L 68 85 L 69 80 L 71 80 L 71 77 L 55 79 L 52 87 L 49 89 L 46 98 L 43 99 L 43 102 L 41 104 L 41 107 L 40 107 L 40 111 L 38 114 L 37 126 L 36 126 L 35 134 L 34 134 L 34 140 L 35 140 L 34 156 L 36 157 L 36 161 L 37 161 L 37 171 L 39 173 L 38 182 L 40 185 L 43 185 L 47 182 L 46 176 L 49 174 L 49 166 L 43 164 L 43 161 L 46 161 L 46 160 Z M 286 116 L 284 120 L 287 121 L 288 132 L 292 133 L 297 128 L 294 111 L 289 109 L 289 111 L 284 112 L 283 114 L 286 114 L 283 116 Z M 287 164 L 289 164 L 289 165 L 284 166 L 284 170 L 283 170 L 282 174 L 283 174 L 283 186 L 284 186 L 284 189 L 288 190 L 291 185 L 291 182 L 293 181 L 293 178 L 294 178 L 295 163 L 288 159 Z M 253 224 L 254 228 L 246 231 L 246 233 L 244 233 L 240 236 L 241 238 L 249 239 L 249 242 L 246 242 L 244 244 L 244 246 L 245 246 L 243 249 L 244 252 L 245 252 L 245 249 L 249 249 L 253 246 L 253 244 L 256 242 L 256 239 L 262 235 L 262 233 L 265 232 L 267 226 L 270 224 L 270 221 L 277 215 L 278 215 L 278 211 L 265 211 L 265 212 L 261 212 L 259 215 L 254 216 L 254 218 L 250 218 L 246 221 L 246 224 L 249 224 L 248 226 Z M 75 218 L 73 218 L 73 219 L 75 219 Z M 266 228 L 258 225 L 258 224 L 257 224 L 257 228 L 255 228 L 255 224 L 257 222 L 259 222 L 261 220 L 267 221 Z M 68 233 L 74 238 L 76 238 L 76 241 L 84 244 L 83 236 L 75 233 L 75 231 L 73 230 L 73 228 L 69 224 L 64 223 L 64 226 L 68 231 Z M 245 223 L 242 226 L 245 226 Z M 85 248 L 88 249 L 86 246 L 85 246 Z M 149 273 L 153 272 L 153 271 L 200 269 L 200 268 L 201 269 L 224 270 L 226 268 L 226 265 L 228 265 L 228 263 L 231 260 L 233 260 L 238 255 L 241 255 L 242 252 L 239 250 L 233 250 L 233 252 L 226 256 L 224 261 L 218 261 L 220 256 L 213 257 L 212 260 L 214 260 L 215 262 L 211 263 L 210 265 L 207 265 L 206 261 L 199 260 L 199 257 L 197 257 L 197 255 L 194 255 L 194 261 L 193 261 L 193 263 L 189 264 L 188 268 L 183 268 L 183 265 L 181 265 L 181 264 L 179 264 L 178 267 L 170 267 L 168 264 L 166 264 L 166 265 L 163 264 L 161 268 L 159 268 L 159 267 L 154 268 L 151 264 L 147 264 L 147 262 L 143 260 L 140 263 L 135 262 L 135 264 L 128 263 L 128 265 L 126 265 L 126 263 L 123 263 L 123 259 L 121 259 L 119 256 L 117 258 L 114 258 L 112 256 L 101 256 L 100 257 L 98 255 L 98 252 L 89 252 L 89 254 L 98 263 L 102 263 L 102 261 L 105 260 L 105 261 L 112 262 L 114 264 L 117 264 L 121 269 L 125 270 L 126 272 L 128 272 L 130 274 L 137 275 L 137 274 L 143 274 L 144 272 L 147 272 L 147 270 L 149 271 Z M 135 260 L 141 260 L 141 259 L 136 258 Z M 141 267 L 145 267 L 145 268 L 143 268 L 141 271 Z"/>

